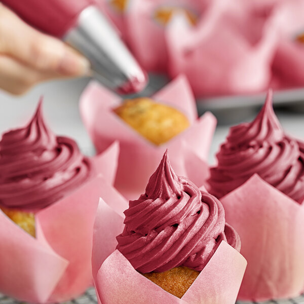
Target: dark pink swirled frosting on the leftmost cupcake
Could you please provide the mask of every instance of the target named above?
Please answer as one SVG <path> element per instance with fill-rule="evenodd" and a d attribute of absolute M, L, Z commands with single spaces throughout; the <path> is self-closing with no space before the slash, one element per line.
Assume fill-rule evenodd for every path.
<path fill-rule="evenodd" d="M 90 161 L 77 143 L 45 124 L 42 103 L 30 123 L 0 141 L 0 206 L 41 209 L 88 179 Z"/>

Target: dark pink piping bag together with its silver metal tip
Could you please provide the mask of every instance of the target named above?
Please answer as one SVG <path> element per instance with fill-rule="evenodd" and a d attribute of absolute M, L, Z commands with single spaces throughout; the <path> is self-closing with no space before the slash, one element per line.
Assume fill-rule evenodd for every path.
<path fill-rule="evenodd" d="M 136 93 L 146 73 L 94 0 L 3 0 L 25 22 L 58 37 L 86 56 L 93 77 L 122 94 Z"/>

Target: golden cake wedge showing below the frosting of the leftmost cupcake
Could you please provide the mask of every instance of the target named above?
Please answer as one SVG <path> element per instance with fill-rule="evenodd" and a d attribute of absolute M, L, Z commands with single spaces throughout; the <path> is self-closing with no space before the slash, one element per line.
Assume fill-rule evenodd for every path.
<path fill-rule="evenodd" d="M 1 208 L 1 210 L 25 232 L 35 237 L 35 216 L 33 213 L 7 208 Z"/>

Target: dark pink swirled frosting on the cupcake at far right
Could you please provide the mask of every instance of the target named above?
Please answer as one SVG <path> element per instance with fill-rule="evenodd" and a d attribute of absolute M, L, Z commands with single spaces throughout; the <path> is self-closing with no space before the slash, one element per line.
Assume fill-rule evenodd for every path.
<path fill-rule="evenodd" d="M 287 136 L 272 106 L 272 92 L 252 123 L 230 129 L 211 168 L 210 193 L 221 198 L 253 174 L 297 202 L 304 199 L 303 146 Z"/>

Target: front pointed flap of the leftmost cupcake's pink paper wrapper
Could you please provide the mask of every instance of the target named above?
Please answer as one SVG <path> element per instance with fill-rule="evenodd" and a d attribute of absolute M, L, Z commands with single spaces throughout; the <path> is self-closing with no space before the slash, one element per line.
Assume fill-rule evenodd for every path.
<path fill-rule="evenodd" d="M 37 239 L 34 239 L 0 210 L 0 290 L 25 301 L 43 303 L 63 275 L 68 261 L 45 244 L 39 225 L 36 232 Z"/>

